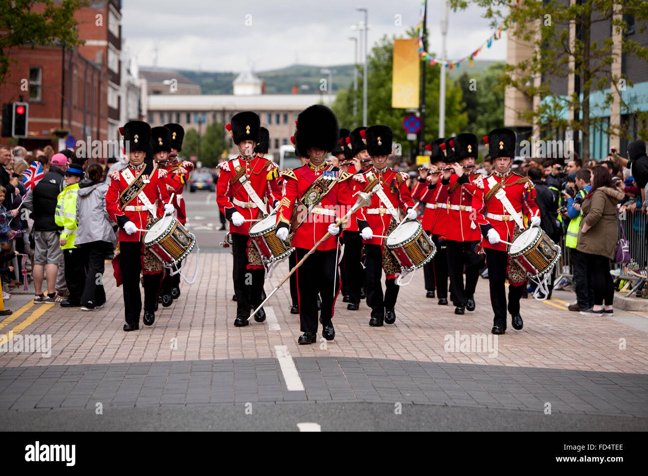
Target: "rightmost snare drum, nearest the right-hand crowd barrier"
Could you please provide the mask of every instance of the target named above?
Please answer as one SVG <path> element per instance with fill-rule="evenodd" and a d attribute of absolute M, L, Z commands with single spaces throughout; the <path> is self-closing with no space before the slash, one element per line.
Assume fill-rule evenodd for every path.
<path fill-rule="evenodd" d="M 523 231 L 511 244 L 509 255 L 531 277 L 549 273 L 561 257 L 561 249 L 538 227 Z"/>

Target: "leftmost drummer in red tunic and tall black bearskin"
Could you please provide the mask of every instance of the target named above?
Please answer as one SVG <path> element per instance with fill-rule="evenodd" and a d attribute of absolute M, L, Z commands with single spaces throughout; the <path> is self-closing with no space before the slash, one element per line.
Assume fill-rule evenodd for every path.
<path fill-rule="evenodd" d="M 128 150 L 128 166 L 110 172 L 110 188 L 106 192 L 108 218 L 119 225 L 119 271 L 124 291 L 124 331 L 139 329 L 142 310 L 139 273 L 144 267 L 144 323 L 155 321 L 154 306 L 160 288 L 163 266 L 142 244 L 143 233 L 157 218 L 158 201 L 164 213 L 174 212 L 163 179 L 167 172 L 153 163 L 150 144 L 151 128 L 146 122 L 132 120 L 121 129 Z M 144 255 L 144 256 L 143 256 Z M 143 266 L 142 266 L 143 264 Z"/>

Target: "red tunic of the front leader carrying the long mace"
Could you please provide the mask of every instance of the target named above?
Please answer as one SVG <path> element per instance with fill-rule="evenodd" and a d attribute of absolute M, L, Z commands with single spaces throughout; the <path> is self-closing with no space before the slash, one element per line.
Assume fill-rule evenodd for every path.
<path fill-rule="evenodd" d="M 310 212 L 306 219 L 295 230 L 295 236 L 292 239 L 291 246 L 311 249 L 314 245 L 327 234 L 330 223 L 334 223 L 337 218 L 341 218 L 356 202 L 351 192 L 351 175 L 341 172 L 337 167 L 324 166 L 315 170 L 312 164 L 308 163 L 292 170 L 291 174 L 283 175 L 286 181 L 284 196 L 277 209 L 277 224 L 285 223 L 290 225 L 293 211 L 298 198 L 302 198 L 308 188 L 327 170 L 335 172 L 338 182 L 324 196 L 319 204 L 315 207 L 314 212 Z M 319 210 L 318 210 L 319 209 Z M 332 212 L 334 210 L 334 214 Z M 330 214 L 323 214 L 324 211 Z M 319 245 L 318 249 L 326 251 L 334 249 L 337 246 L 338 239 L 336 236 L 330 236 Z"/>

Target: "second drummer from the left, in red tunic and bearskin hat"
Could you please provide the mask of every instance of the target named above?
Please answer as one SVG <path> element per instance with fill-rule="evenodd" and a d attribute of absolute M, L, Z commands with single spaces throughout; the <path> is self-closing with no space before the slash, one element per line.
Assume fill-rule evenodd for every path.
<path fill-rule="evenodd" d="M 268 172 L 277 165 L 262 159 L 254 152 L 260 139 L 259 115 L 251 111 L 238 113 L 227 124 L 226 129 L 238 146 L 238 157 L 218 164 L 220 175 L 216 184 L 218 207 L 225 211 L 231 222 L 229 232 L 232 237 L 234 264 L 232 278 L 237 297 L 237 327 L 249 324 L 249 313 L 261 304 L 265 269 L 262 264 L 249 262 L 249 229 L 254 220 L 262 218 L 267 212 L 268 203 L 276 207 L 279 200 L 270 186 Z M 248 279 L 248 275 L 251 279 Z M 266 320 L 261 308 L 254 316 L 257 323 Z"/>

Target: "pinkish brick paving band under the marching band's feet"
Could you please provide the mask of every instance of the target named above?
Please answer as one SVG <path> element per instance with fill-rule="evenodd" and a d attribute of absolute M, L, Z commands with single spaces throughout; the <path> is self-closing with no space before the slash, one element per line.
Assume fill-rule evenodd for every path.
<path fill-rule="evenodd" d="M 192 276 L 195 260 L 185 273 Z M 497 354 L 446 352 L 446 337 L 489 334 L 492 326 L 488 284 L 481 280 L 476 293 L 477 310 L 463 316 L 454 307 L 437 306 L 424 297 L 422 272 L 410 286 L 400 289 L 397 321 L 391 326 L 368 326 L 369 308 L 351 312 L 338 299 L 334 325 L 336 338 L 327 343 L 299 346 L 299 317 L 288 312 L 288 284 L 266 304 L 277 317 L 280 330 L 268 323 L 235 328 L 236 303 L 231 301 L 232 257 L 229 253 L 200 255 L 200 277 L 192 286 L 183 284 L 182 295 L 170 308 L 156 313 L 156 323 L 141 323 L 137 332 L 123 332 L 122 290 L 115 288 L 110 263 L 106 267 L 108 304 L 97 312 L 65 310 L 54 306 L 29 324 L 22 334 L 51 334 L 51 357 L 41 354 L 0 354 L 0 367 L 42 365 L 95 365 L 150 363 L 155 361 L 214 361 L 222 359 L 268 359 L 274 346 L 285 345 L 293 357 L 350 357 L 434 363 L 476 364 L 505 367 L 556 368 L 645 374 L 648 370 L 648 335 L 632 326 L 631 319 L 646 319 L 642 313 L 618 313 L 610 317 L 585 317 L 553 305 L 522 301 L 524 330 L 511 326 L 498 337 Z M 287 273 L 280 266 L 266 280 L 270 291 Z M 40 305 L 36 305 L 40 306 Z M 34 306 L 1 332 L 8 332 L 27 319 Z M 624 320 L 627 319 L 627 322 Z M 0 324 L 1 325 L 1 324 Z M 625 343 L 625 348 L 621 343 Z M 454 350 L 454 349 L 453 349 Z"/>

